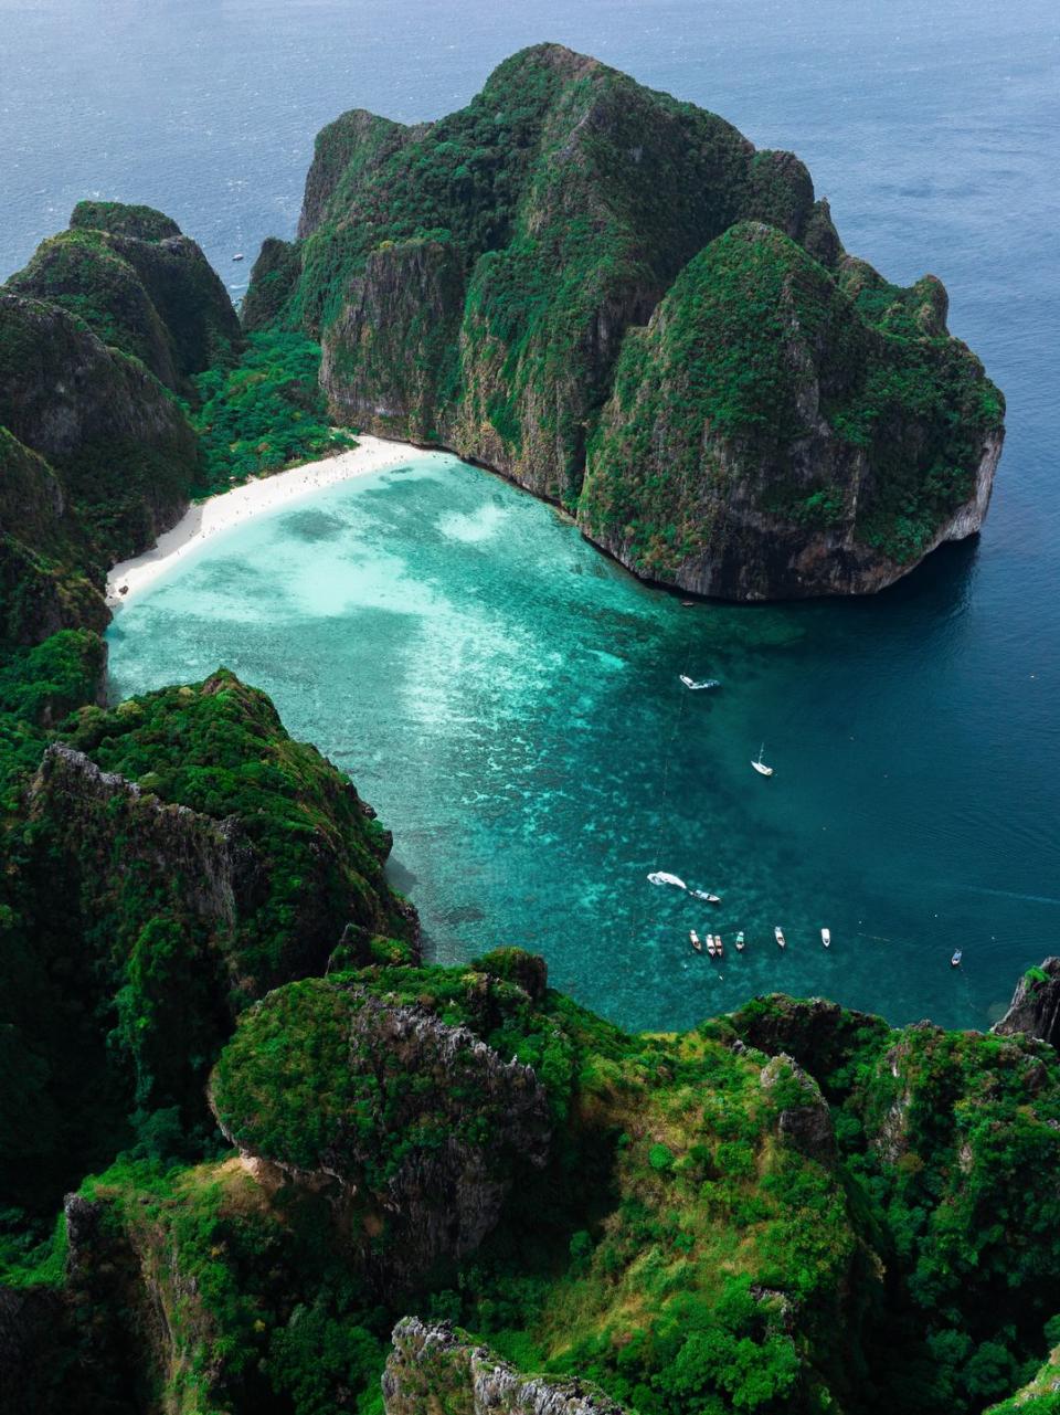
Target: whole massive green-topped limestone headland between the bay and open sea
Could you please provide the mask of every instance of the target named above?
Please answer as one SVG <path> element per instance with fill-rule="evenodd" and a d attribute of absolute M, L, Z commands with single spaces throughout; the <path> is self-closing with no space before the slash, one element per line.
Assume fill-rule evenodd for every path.
<path fill-rule="evenodd" d="M 737 600 L 873 591 L 979 529 L 1003 399 L 945 316 L 843 252 L 791 153 L 555 44 L 436 123 L 324 129 L 243 310 L 320 338 L 341 420 Z"/>

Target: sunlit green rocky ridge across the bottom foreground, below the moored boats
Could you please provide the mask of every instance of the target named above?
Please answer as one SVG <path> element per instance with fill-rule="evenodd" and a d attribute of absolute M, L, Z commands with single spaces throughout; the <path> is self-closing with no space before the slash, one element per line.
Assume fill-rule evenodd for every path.
<path fill-rule="evenodd" d="M 783 996 L 635 1037 L 514 949 L 337 959 L 222 1051 L 238 1155 L 119 1159 L 3 1295 L 37 1409 L 1050 1409 L 1043 1041 Z"/>

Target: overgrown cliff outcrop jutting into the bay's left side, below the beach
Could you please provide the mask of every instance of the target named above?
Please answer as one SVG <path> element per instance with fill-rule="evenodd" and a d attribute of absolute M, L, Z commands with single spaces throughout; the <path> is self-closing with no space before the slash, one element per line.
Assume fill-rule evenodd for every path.
<path fill-rule="evenodd" d="M 416 955 L 384 879 L 389 836 L 269 700 L 218 674 L 85 709 L 44 754 L 18 889 L 40 968 L 79 959 L 120 1097 L 207 1118 L 204 1082 L 248 1000 L 323 972 L 347 927 Z M 67 982 L 69 986 L 69 982 Z"/>

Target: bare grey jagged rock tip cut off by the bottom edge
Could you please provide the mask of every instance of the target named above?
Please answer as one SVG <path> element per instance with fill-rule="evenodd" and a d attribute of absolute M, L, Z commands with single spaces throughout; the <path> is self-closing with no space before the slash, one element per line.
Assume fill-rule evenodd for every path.
<path fill-rule="evenodd" d="M 623 1415 L 580 1380 L 526 1377 L 447 1323 L 405 1317 L 382 1378 L 386 1415 Z"/>

